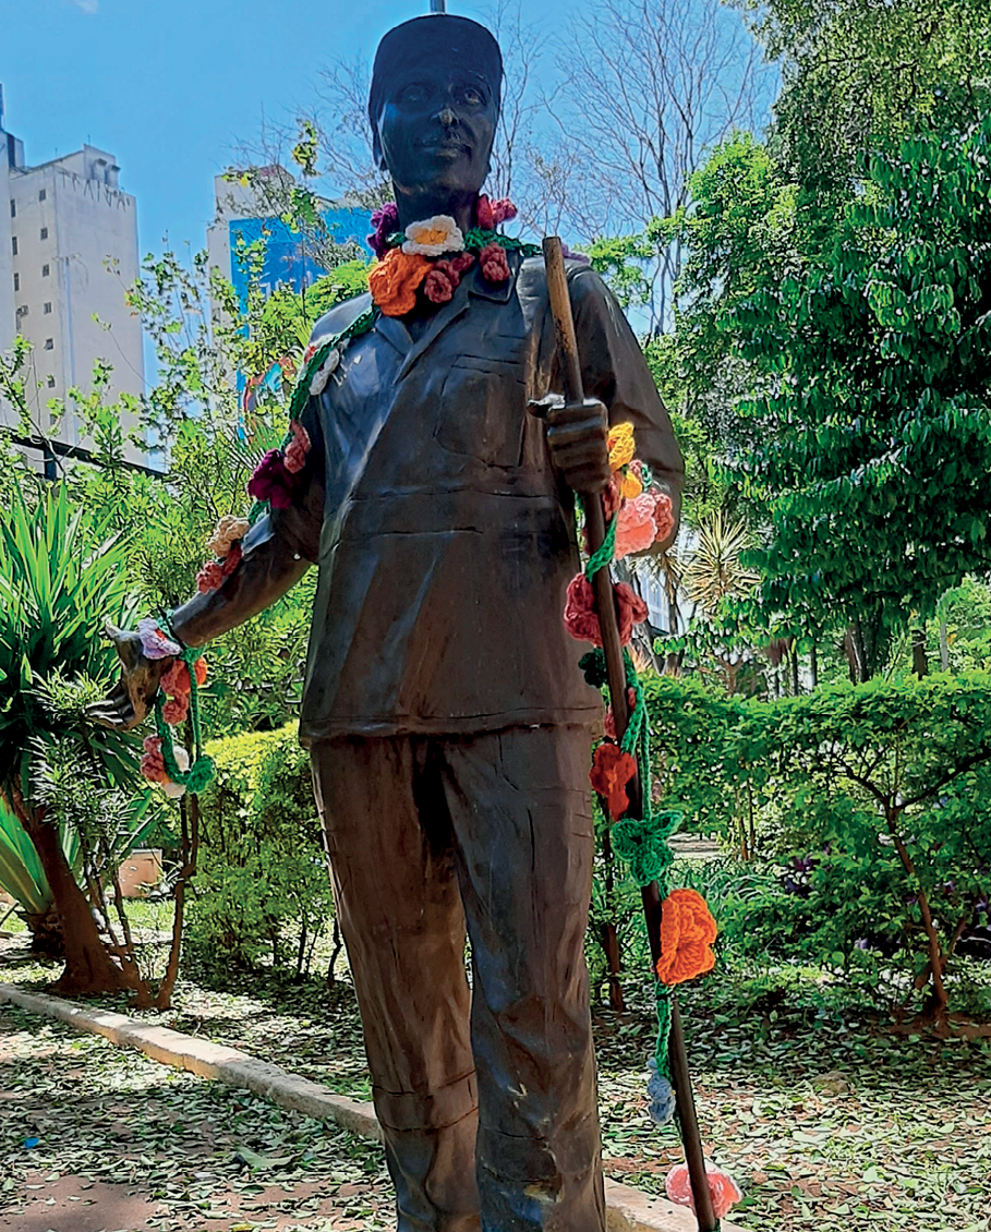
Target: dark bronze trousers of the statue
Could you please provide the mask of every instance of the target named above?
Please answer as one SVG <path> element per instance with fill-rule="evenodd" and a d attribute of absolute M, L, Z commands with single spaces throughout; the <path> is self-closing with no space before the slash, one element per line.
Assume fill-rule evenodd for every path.
<path fill-rule="evenodd" d="M 399 1232 L 602 1232 L 588 729 L 311 753 Z"/>

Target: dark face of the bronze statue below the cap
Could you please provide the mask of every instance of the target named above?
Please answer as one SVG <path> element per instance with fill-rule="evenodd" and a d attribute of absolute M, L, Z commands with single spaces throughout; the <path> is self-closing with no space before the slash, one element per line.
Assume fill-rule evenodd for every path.
<path fill-rule="evenodd" d="M 498 97 L 481 73 L 410 65 L 382 102 L 375 155 L 407 193 L 476 193 L 488 174 L 498 118 Z"/>

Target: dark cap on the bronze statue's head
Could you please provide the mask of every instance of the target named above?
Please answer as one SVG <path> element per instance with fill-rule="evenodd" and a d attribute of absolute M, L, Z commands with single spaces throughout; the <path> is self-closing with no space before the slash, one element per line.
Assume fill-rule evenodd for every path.
<path fill-rule="evenodd" d="M 382 37 L 375 53 L 369 92 L 369 120 L 378 124 L 389 81 L 410 63 L 438 60 L 445 67 L 460 63 L 481 73 L 498 97 L 503 80 L 503 57 L 492 31 L 468 17 L 450 12 L 424 14 L 394 26 Z"/>

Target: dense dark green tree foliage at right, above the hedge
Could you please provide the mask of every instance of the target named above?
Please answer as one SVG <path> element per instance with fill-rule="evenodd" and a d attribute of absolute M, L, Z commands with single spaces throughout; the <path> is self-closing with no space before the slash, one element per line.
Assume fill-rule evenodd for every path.
<path fill-rule="evenodd" d="M 736 309 L 758 394 L 735 478 L 772 530 L 764 617 L 892 630 L 991 568 L 991 117 L 870 163 L 833 251 Z"/>

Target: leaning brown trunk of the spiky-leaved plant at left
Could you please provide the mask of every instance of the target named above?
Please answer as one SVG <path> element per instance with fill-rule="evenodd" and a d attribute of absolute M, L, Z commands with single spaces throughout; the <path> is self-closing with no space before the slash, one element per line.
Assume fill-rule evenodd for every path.
<path fill-rule="evenodd" d="M 53 984 L 53 992 L 116 993 L 133 988 L 132 979 L 111 958 L 100 939 L 89 901 L 65 861 L 58 829 L 44 819 L 44 809 L 28 811 L 20 791 L 12 790 L 11 797 L 17 819 L 38 853 L 62 922 L 65 970 Z"/>

